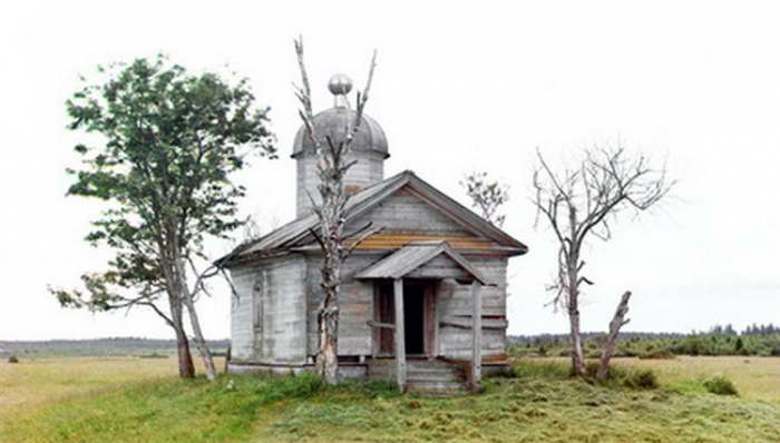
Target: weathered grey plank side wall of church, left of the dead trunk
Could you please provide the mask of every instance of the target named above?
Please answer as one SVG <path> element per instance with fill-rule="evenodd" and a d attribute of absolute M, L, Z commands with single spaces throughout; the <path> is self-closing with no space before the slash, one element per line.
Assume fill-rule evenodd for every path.
<path fill-rule="evenodd" d="M 306 262 L 291 255 L 232 270 L 232 352 L 236 361 L 303 364 L 306 360 Z"/>

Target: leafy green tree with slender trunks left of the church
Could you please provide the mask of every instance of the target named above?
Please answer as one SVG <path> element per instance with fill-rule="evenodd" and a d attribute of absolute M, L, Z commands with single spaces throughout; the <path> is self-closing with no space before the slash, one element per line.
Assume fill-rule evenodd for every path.
<path fill-rule="evenodd" d="M 179 375 L 194 376 L 184 311 L 194 341 L 214 376 L 195 301 L 207 292 L 204 240 L 225 238 L 244 220 L 237 200 L 245 190 L 231 181 L 251 155 L 275 158 L 267 108 L 257 109 L 247 80 L 191 75 L 167 58 L 138 59 L 99 68 L 103 81 L 67 101 L 69 129 L 94 134 L 79 144 L 69 196 L 106 203 L 86 239 L 108 246 L 107 269 L 81 276 L 84 289 L 50 292 L 66 307 L 96 312 L 143 306 L 174 329 Z"/>

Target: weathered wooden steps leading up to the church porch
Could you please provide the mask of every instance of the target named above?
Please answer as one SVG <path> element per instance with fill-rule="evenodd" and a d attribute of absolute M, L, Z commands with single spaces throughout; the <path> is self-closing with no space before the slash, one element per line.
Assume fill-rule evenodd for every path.
<path fill-rule="evenodd" d="M 396 361 L 380 358 L 369 362 L 369 378 L 396 380 Z M 449 396 L 468 392 L 466 375 L 455 364 L 442 360 L 413 360 L 407 361 L 407 392 Z"/>

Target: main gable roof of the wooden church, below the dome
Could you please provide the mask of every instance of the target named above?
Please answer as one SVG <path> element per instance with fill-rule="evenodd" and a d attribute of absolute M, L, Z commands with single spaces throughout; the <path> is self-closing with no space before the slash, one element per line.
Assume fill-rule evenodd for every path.
<path fill-rule="evenodd" d="M 437 209 L 448 216 L 499 245 L 508 247 L 511 253 L 525 254 L 528 250 L 526 245 L 436 189 L 411 170 L 404 170 L 353 194 L 345 207 L 348 222 L 364 214 L 403 186 L 409 186 L 416 190 L 428 204 L 436 206 Z M 318 223 L 319 219 L 315 214 L 296 218 L 252 243 L 236 247 L 231 254 L 220 258 L 216 265 L 227 267 L 250 256 L 289 250 L 291 247 L 296 246 L 300 240 L 308 237 L 310 229 L 316 227 Z"/>

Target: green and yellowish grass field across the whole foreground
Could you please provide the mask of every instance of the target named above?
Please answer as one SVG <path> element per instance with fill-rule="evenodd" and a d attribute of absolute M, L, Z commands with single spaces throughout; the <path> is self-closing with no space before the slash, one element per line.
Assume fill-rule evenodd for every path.
<path fill-rule="evenodd" d="M 620 360 L 661 387 L 628 390 L 540 367 L 476 396 L 399 395 L 312 377 L 179 381 L 175 360 L 52 358 L 0 365 L 0 442 L 528 441 L 777 442 L 780 358 Z M 547 360 L 550 364 L 555 361 Z M 731 377 L 739 397 L 698 380 Z"/>

